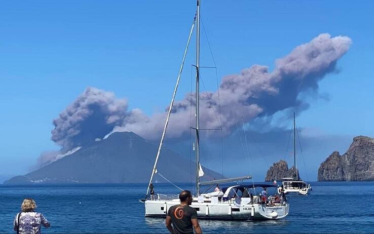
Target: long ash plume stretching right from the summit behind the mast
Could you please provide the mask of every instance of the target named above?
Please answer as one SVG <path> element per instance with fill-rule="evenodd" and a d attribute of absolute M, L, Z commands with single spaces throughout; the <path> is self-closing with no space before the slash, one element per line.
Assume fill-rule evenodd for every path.
<path fill-rule="evenodd" d="M 276 60 L 272 72 L 264 65 L 252 65 L 239 74 L 223 77 L 219 87 L 222 128 L 229 134 L 243 117 L 249 122 L 257 116 L 269 116 L 290 107 L 306 109 L 309 104 L 298 98 L 307 90 L 317 91 L 318 82 L 336 72 L 336 62 L 348 51 L 352 41 L 348 36 L 332 37 L 320 34 L 304 45 L 298 46 L 283 58 Z M 202 128 L 220 127 L 217 118 L 218 92 L 200 94 Z M 194 106 L 194 94 L 188 94 L 173 107 L 168 128 L 169 137 L 180 137 L 190 130 L 190 106 Z M 140 110 L 136 118 L 115 127 L 114 131 L 133 131 L 148 139 L 160 137 L 166 113 L 148 117 Z"/>

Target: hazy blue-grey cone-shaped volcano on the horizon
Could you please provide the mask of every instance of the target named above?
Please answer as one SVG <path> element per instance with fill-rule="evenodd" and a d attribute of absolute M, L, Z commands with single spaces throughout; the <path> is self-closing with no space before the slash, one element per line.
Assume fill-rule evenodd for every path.
<path fill-rule="evenodd" d="M 4 183 L 144 183 L 149 181 L 158 145 L 132 132 L 116 132 L 93 141 L 76 152 L 26 175 Z M 173 182 L 190 181 L 195 165 L 189 159 L 163 147 L 157 170 Z M 190 171 L 190 169 L 192 169 Z M 202 180 L 222 178 L 203 168 Z M 166 182 L 158 174 L 154 181 Z"/>

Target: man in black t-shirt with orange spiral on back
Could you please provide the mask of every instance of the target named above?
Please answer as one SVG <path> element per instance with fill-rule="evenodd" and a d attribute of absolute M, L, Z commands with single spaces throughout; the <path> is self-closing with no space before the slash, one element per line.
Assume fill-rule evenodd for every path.
<path fill-rule="evenodd" d="M 179 194 L 180 204 L 170 207 L 166 216 L 166 227 L 170 233 L 202 233 L 197 220 L 195 208 L 192 204 L 192 195 L 189 190 L 184 190 Z M 173 226 L 171 225 L 173 224 Z"/>

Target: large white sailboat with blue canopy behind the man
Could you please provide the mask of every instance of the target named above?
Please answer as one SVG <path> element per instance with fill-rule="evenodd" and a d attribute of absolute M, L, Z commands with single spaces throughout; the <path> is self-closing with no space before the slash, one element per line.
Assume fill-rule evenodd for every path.
<path fill-rule="evenodd" d="M 274 188 L 276 193 L 277 187 L 269 184 L 242 184 L 243 180 L 251 179 L 252 176 L 246 175 L 236 178 L 219 179 L 212 181 L 200 181 L 200 177 L 204 174 L 199 163 L 199 146 L 200 146 L 200 126 L 199 126 L 199 71 L 200 71 L 200 0 L 197 1 L 197 11 L 191 27 L 190 35 L 188 38 L 187 46 L 184 51 L 182 64 L 180 66 L 177 82 L 175 85 L 173 97 L 169 106 L 169 111 L 164 126 L 164 131 L 160 140 L 159 149 L 156 155 L 155 164 L 152 170 L 151 179 L 148 183 L 144 202 L 145 216 L 146 217 L 165 217 L 168 209 L 180 203 L 177 196 L 165 196 L 162 194 L 153 194 L 148 197 L 151 183 L 153 182 L 154 175 L 159 173 L 157 171 L 157 163 L 160 157 L 160 151 L 164 141 L 166 129 L 169 123 L 170 113 L 173 107 L 175 94 L 178 88 L 181 71 L 188 50 L 192 32 L 196 24 L 196 142 L 195 156 L 196 156 L 196 194 L 194 194 L 191 207 L 195 208 L 199 218 L 203 219 L 226 219 L 226 220 L 248 220 L 248 219 L 280 219 L 288 215 L 289 204 L 286 200 L 272 203 L 272 205 L 263 202 L 260 191 L 264 188 Z M 224 184 L 237 181 L 236 185 L 222 187 L 218 191 L 209 191 L 216 184 Z M 209 186 L 204 192 L 200 192 L 201 186 Z M 256 191 L 257 189 L 257 191 Z M 269 189 L 270 190 L 270 189 Z"/>

